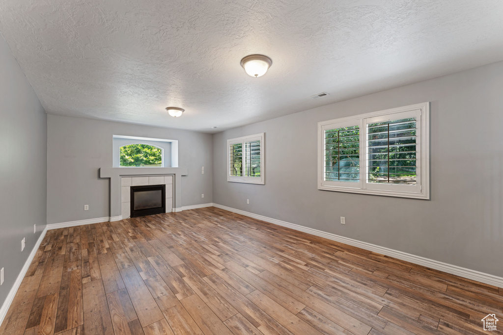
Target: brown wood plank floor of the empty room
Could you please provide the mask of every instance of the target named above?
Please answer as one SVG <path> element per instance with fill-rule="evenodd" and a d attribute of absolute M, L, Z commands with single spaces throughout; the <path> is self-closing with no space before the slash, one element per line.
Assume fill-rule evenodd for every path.
<path fill-rule="evenodd" d="M 502 289 L 208 207 L 48 231 L 0 334 L 484 334 L 489 313 L 503 330 Z"/>

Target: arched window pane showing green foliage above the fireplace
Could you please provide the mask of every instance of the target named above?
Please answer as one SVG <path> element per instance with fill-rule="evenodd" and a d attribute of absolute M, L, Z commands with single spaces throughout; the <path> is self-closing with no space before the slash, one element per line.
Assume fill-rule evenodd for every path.
<path fill-rule="evenodd" d="M 122 146 L 120 166 L 162 166 L 162 149 L 148 144 Z"/>

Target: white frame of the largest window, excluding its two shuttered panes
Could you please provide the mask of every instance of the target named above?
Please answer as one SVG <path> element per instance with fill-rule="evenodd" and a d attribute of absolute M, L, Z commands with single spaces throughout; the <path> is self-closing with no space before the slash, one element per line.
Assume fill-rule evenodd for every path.
<path fill-rule="evenodd" d="M 367 182 L 367 124 L 416 118 L 416 185 L 397 185 Z M 360 127 L 360 181 L 324 180 L 324 131 L 341 127 Z M 376 194 L 404 198 L 430 199 L 430 103 L 360 114 L 348 118 L 318 122 L 318 189 L 338 192 Z"/>

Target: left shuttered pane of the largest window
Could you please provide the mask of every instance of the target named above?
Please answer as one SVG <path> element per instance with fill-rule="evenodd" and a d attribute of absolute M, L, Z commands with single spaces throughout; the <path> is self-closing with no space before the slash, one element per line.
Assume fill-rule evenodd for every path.
<path fill-rule="evenodd" d="M 324 180 L 360 181 L 360 127 L 325 130 Z"/>

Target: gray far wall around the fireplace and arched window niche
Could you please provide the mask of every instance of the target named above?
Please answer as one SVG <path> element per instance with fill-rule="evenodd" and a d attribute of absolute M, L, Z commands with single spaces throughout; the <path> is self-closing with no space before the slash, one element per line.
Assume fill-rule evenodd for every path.
<path fill-rule="evenodd" d="M 210 134 L 55 115 L 47 116 L 47 126 L 48 224 L 110 215 L 110 181 L 99 179 L 98 169 L 112 167 L 113 135 L 178 140 L 179 166 L 189 169 L 182 177 L 182 205 L 212 202 Z"/>

